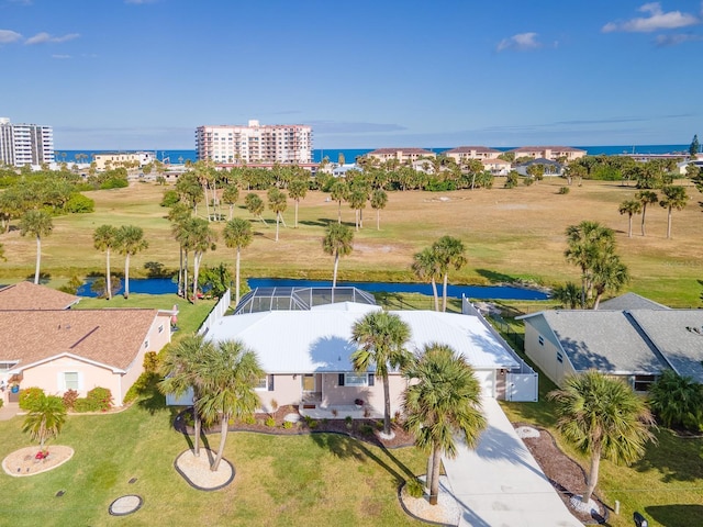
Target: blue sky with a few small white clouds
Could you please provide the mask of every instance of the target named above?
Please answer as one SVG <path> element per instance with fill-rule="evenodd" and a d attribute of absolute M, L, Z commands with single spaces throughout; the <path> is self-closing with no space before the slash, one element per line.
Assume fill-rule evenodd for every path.
<path fill-rule="evenodd" d="M 0 0 L 0 116 L 57 149 L 250 119 L 316 148 L 688 144 L 702 54 L 698 0 Z"/>

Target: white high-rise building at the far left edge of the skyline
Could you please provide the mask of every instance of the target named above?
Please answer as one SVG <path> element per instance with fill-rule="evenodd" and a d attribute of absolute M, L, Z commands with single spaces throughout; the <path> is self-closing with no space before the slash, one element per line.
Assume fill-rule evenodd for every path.
<path fill-rule="evenodd" d="M 54 131 L 40 124 L 11 124 L 0 117 L 0 162 L 14 167 L 54 162 Z"/>

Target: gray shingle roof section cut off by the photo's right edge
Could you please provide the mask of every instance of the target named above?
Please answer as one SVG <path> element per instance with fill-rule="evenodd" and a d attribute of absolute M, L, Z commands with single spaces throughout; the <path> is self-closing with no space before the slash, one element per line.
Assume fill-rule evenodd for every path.
<path fill-rule="evenodd" d="M 631 314 L 677 373 L 703 383 L 703 310 L 634 310 Z"/>

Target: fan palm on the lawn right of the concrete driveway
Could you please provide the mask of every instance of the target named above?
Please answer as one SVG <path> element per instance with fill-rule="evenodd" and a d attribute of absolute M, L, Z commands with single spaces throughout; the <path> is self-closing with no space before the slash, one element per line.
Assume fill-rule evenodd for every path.
<path fill-rule="evenodd" d="M 547 396 L 557 403 L 557 428 L 565 439 L 591 456 L 582 503 L 589 503 L 598 485 L 601 459 L 631 464 L 655 439 L 645 400 L 620 379 L 590 370 L 567 378 L 561 390 Z"/>

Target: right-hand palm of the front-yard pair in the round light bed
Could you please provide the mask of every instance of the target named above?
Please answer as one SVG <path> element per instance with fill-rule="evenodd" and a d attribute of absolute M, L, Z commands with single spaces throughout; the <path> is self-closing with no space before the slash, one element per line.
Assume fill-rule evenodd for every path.
<path fill-rule="evenodd" d="M 198 401 L 207 418 L 220 418 L 220 447 L 210 470 L 216 472 L 227 441 L 227 427 L 232 417 L 250 416 L 260 404 L 256 386 L 264 377 L 256 352 L 237 340 L 223 340 L 209 348 L 203 363 L 204 391 Z"/>

